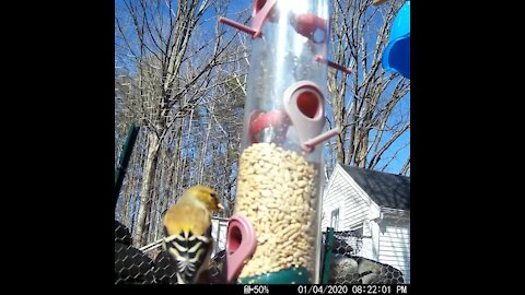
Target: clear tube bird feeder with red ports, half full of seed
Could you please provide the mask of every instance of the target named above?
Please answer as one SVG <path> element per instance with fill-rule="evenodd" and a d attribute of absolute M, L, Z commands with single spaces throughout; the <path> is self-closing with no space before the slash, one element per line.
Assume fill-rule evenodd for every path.
<path fill-rule="evenodd" d="M 326 0 L 257 0 L 226 278 L 243 284 L 319 282 L 320 143 L 327 67 Z"/>

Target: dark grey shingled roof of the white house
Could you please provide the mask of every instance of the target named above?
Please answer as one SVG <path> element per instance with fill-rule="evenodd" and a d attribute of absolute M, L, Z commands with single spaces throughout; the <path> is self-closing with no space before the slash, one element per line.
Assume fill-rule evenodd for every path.
<path fill-rule="evenodd" d="M 378 205 L 410 210 L 410 177 L 339 165 Z"/>

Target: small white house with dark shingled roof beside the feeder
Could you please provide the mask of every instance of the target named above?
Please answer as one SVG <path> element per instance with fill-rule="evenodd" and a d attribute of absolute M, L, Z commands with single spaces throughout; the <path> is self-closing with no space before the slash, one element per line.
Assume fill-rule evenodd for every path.
<path fill-rule="evenodd" d="M 355 255 L 399 269 L 410 283 L 410 177 L 338 164 L 324 189 L 327 227 L 361 233 Z"/>

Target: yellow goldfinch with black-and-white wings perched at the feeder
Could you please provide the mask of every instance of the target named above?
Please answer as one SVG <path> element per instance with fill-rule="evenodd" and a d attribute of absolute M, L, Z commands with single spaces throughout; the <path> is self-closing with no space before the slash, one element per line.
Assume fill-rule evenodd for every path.
<path fill-rule="evenodd" d="M 176 263 L 178 284 L 195 284 L 208 267 L 213 249 L 211 212 L 222 210 L 213 189 L 195 186 L 166 212 L 162 247 Z"/>

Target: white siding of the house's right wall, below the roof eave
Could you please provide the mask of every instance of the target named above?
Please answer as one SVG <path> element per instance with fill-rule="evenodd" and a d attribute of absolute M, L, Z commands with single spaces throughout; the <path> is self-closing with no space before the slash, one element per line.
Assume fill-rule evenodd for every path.
<path fill-rule="evenodd" d="M 410 282 L 410 223 L 383 220 L 380 225 L 378 261 L 402 272 L 406 283 Z"/>

